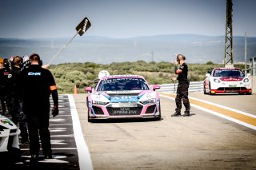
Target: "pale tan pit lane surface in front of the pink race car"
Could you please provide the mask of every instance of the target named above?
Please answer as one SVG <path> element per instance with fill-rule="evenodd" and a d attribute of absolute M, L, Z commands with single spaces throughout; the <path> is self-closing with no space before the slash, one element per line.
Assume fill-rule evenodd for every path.
<path fill-rule="evenodd" d="M 251 128 L 194 107 L 191 117 L 170 117 L 166 97 L 162 121 L 88 123 L 85 99 L 74 95 L 94 169 L 256 169 Z"/>

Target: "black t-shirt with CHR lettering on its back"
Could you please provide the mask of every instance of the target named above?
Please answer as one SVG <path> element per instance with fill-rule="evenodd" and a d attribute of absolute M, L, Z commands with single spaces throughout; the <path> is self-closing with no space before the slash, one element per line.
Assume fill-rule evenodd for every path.
<path fill-rule="evenodd" d="M 40 65 L 30 65 L 21 73 L 21 87 L 24 108 L 49 107 L 50 87 L 54 86 L 53 75 Z"/>

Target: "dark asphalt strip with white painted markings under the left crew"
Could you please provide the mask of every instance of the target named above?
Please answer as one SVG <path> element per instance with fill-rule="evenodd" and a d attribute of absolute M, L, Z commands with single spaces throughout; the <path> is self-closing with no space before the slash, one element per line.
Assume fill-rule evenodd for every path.
<path fill-rule="evenodd" d="M 53 159 L 44 159 L 40 151 L 38 164 L 30 164 L 29 145 L 20 145 L 21 157 L 14 159 L 14 154 L 0 159 L 2 165 L 10 169 L 58 170 L 79 169 L 78 151 L 74 140 L 70 103 L 66 95 L 59 96 L 59 115 L 50 116 L 50 135 Z M 2 169 L 2 168 L 1 168 Z"/>

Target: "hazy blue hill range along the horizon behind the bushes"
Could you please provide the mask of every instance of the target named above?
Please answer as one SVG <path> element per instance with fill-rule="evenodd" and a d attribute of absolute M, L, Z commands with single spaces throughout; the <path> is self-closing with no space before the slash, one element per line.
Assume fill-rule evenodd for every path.
<path fill-rule="evenodd" d="M 47 63 L 69 38 L 6 39 L 0 38 L 0 57 L 38 53 Z M 173 61 L 174 55 L 184 53 L 187 62 L 222 63 L 224 36 L 210 37 L 194 34 L 157 35 L 136 38 L 77 37 L 54 61 L 95 62 L 110 64 L 124 61 Z M 153 57 L 152 57 L 153 51 Z M 247 38 L 247 58 L 256 57 L 256 38 Z M 244 61 L 244 38 L 234 37 L 234 61 Z"/>

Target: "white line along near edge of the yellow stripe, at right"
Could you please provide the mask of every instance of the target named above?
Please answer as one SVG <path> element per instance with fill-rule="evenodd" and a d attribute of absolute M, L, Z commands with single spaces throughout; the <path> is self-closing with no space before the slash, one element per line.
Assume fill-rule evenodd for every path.
<path fill-rule="evenodd" d="M 161 96 L 161 97 L 166 97 L 165 95 L 162 95 L 162 94 L 159 94 L 159 96 Z M 166 97 L 166 98 L 169 98 L 169 99 L 171 99 L 171 100 L 173 100 L 173 101 L 175 100 L 174 97 Z M 203 101 L 203 102 L 204 102 L 204 101 Z M 208 104 L 210 104 L 210 102 L 209 102 Z M 237 119 L 234 119 L 234 118 L 232 118 L 232 117 L 227 117 L 227 116 L 225 116 L 225 115 L 222 115 L 221 113 L 214 112 L 214 111 L 212 111 L 212 110 L 210 110 L 210 109 L 205 109 L 205 108 L 203 108 L 203 107 L 201 107 L 201 106 L 198 106 L 198 105 L 194 105 L 194 104 L 190 104 L 190 105 L 193 106 L 194 108 L 201 109 L 201 110 L 203 110 L 203 111 L 205 111 L 205 112 L 207 112 L 207 113 L 214 114 L 214 115 L 216 115 L 216 116 L 218 116 L 218 117 L 222 117 L 222 118 L 224 118 L 224 119 L 226 119 L 226 120 L 233 121 L 233 122 L 235 122 L 235 123 L 237 123 L 237 124 L 239 124 L 239 125 L 243 125 L 243 126 L 246 126 L 247 128 L 252 128 L 252 129 L 256 130 L 256 126 L 254 126 L 254 125 L 247 124 L 247 123 L 245 123 L 245 122 L 243 122 L 243 121 L 238 121 Z M 210 105 L 211 105 L 211 104 L 210 104 Z M 222 106 L 219 105 L 218 107 L 222 107 Z"/>

